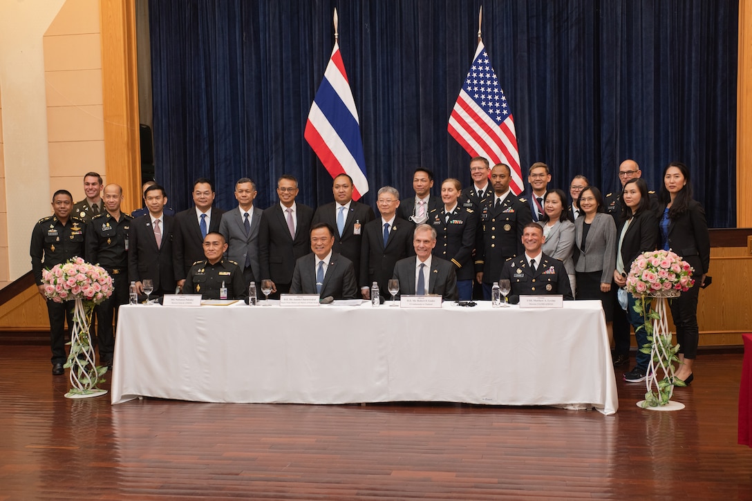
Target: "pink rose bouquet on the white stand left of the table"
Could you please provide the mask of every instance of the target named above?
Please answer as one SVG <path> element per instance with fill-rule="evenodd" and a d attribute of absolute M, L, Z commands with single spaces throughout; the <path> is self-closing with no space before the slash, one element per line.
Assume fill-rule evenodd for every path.
<path fill-rule="evenodd" d="M 112 277 L 100 266 L 74 257 L 67 263 L 42 270 L 44 295 L 54 302 L 83 299 L 99 305 L 112 296 Z"/>

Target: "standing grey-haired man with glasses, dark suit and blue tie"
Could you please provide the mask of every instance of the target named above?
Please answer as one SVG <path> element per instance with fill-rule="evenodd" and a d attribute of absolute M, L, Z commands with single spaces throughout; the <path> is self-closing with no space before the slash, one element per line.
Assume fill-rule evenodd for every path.
<path fill-rule="evenodd" d="M 387 290 L 394 265 L 413 253 L 413 228 L 407 220 L 396 216 L 400 205 L 399 191 L 390 186 L 378 190 L 381 217 L 365 225 L 360 252 L 360 294 L 371 299 L 371 284 Z M 382 296 L 383 297 L 383 296 Z"/>

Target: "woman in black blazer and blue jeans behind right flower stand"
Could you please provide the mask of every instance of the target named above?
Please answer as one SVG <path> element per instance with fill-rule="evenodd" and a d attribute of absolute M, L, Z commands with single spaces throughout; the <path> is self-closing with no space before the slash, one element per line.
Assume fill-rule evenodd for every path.
<path fill-rule="evenodd" d="M 658 222 L 655 214 L 650 211 L 647 183 L 640 178 L 630 179 L 624 184 L 621 199 L 623 203 L 617 226 L 618 244 L 614 270 L 614 283 L 620 288 L 626 286 L 626 276 L 629 275 L 632 261 L 646 250 L 655 250 L 658 244 Z M 638 351 L 635 367 L 624 375 L 624 380 L 638 383 L 645 380 L 647 364 L 650 363 L 650 354 L 639 351 L 639 348 L 647 344 L 647 332 L 644 316 L 635 311 L 635 296 L 628 293 L 626 298 L 626 319 L 635 328 Z M 646 306 L 649 308 L 650 302 Z"/>

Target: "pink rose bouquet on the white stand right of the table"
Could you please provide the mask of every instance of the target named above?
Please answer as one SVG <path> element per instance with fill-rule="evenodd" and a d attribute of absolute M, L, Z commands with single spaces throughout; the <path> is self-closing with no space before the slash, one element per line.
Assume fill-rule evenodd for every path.
<path fill-rule="evenodd" d="M 650 250 L 632 262 L 626 290 L 634 296 L 687 292 L 695 284 L 692 266 L 671 250 Z"/>

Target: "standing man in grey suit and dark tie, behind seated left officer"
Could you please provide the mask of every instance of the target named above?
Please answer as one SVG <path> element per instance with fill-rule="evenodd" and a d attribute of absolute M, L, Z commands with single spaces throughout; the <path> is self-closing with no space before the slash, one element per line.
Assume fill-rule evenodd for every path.
<path fill-rule="evenodd" d="M 240 178 L 235 183 L 235 199 L 238 207 L 222 215 L 220 233 L 227 242 L 227 257 L 238 263 L 243 270 L 245 288 L 252 281 L 261 281 L 259 261 L 259 228 L 262 210 L 253 207 L 256 199 L 256 183 L 250 178 Z"/>

